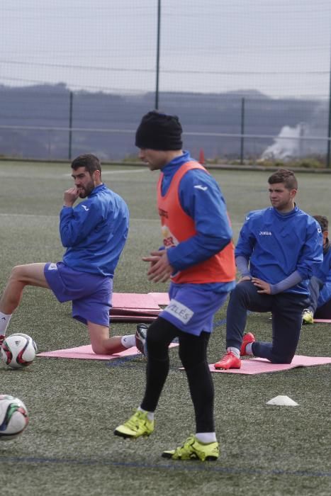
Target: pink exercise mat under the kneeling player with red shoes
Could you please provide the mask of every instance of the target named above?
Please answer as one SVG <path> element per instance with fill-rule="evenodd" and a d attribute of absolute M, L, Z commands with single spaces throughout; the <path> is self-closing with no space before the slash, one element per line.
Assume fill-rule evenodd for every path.
<path fill-rule="evenodd" d="M 253 375 L 256 373 L 287 371 L 295 367 L 312 367 L 331 363 L 331 356 L 294 356 L 292 363 L 270 363 L 267 359 L 244 359 L 241 368 L 230 368 L 228 371 L 216 370 L 213 365 L 209 366 L 211 372 L 215 373 L 244 373 Z"/>

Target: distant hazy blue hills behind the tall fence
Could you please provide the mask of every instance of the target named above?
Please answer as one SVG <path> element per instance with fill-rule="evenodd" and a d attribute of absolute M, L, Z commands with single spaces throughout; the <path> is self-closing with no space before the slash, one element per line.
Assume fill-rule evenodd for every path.
<path fill-rule="evenodd" d="M 0 86 L 0 125 L 28 126 L 40 130 L 0 128 L 0 154 L 38 159 L 68 159 L 69 89 L 64 84 Z M 155 94 L 119 95 L 78 91 L 72 94 L 72 157 L 94 152 L 101 159 L 124 159 L 137 154 L 134 131 L 144 113 L 155 106 Z M 284 126 L 305 123 L 307 133 L 327 136 L 327 102 L 274 99 L 259 91 L 225 94 L 167 92 L 159 95 L 159 109 L 179 115 L 184 128 L 184 147 L 198 157 L 240 156 L 240 137 L 217 137 L 206 133 L 277 136 Z M 57 128 L 48 131 L 45 128 Z M 64 128 L 60 130 L 59 128 Z M 98 133 L 87 131 L 99 130 Z M 117 130 L 103 133 L 102 130 Z M 122 133 L 120 132 L 122 131 Z M 128 131 L 132 131 L 128 133 Z M 203 133 L 203 135 L 190 135 Z M 273 143 L 271 138 L 247 137 L 245 157 L 259 157 Z M 324 142 L 312 142 L 305 152 L 325 153 Z"/>

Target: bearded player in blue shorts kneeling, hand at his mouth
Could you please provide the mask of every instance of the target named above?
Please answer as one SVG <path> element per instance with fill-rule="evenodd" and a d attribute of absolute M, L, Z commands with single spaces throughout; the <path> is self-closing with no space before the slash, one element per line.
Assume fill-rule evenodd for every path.
<path fill-rule="evenodd" d="M 113 276 L 128 235 L 128 207 L 101 181 L 97 157 L 80 155 L 71 167 L 74 186 L 64 191 L 60 212 L 63 260 L 13 267 L 0 300 L 1 340 L 24 287 L 40 286 L 60 302 L 72 300 L 72 317 L 87 325 L 96 354 L 118 353 L 135 346 L 135 335 L 109 337 Z M 82 201 L 73 207 L 78 198 Z"/>

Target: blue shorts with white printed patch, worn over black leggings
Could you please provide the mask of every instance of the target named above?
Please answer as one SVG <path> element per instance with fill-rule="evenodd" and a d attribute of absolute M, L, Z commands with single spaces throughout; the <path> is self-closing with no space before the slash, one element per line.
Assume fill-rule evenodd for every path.
<path fill-rule="evenodd" d="M 181 331 L 200 336 L 213 331 L 215 313 L 228 297 L 228 292 L 214 293 L 196 284 L 170 284 L 169 305 L 159 314 Z"/>

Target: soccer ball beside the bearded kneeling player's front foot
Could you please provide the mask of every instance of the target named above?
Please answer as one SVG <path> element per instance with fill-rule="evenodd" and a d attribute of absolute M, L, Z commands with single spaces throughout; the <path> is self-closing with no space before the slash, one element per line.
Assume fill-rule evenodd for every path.
<path fill-rule="evenodd" d="M 11 368 L 23 368 L 35 359 L 37 346 L 28 334 L 11 334 L 1 347 L 1 359 Z"/>

